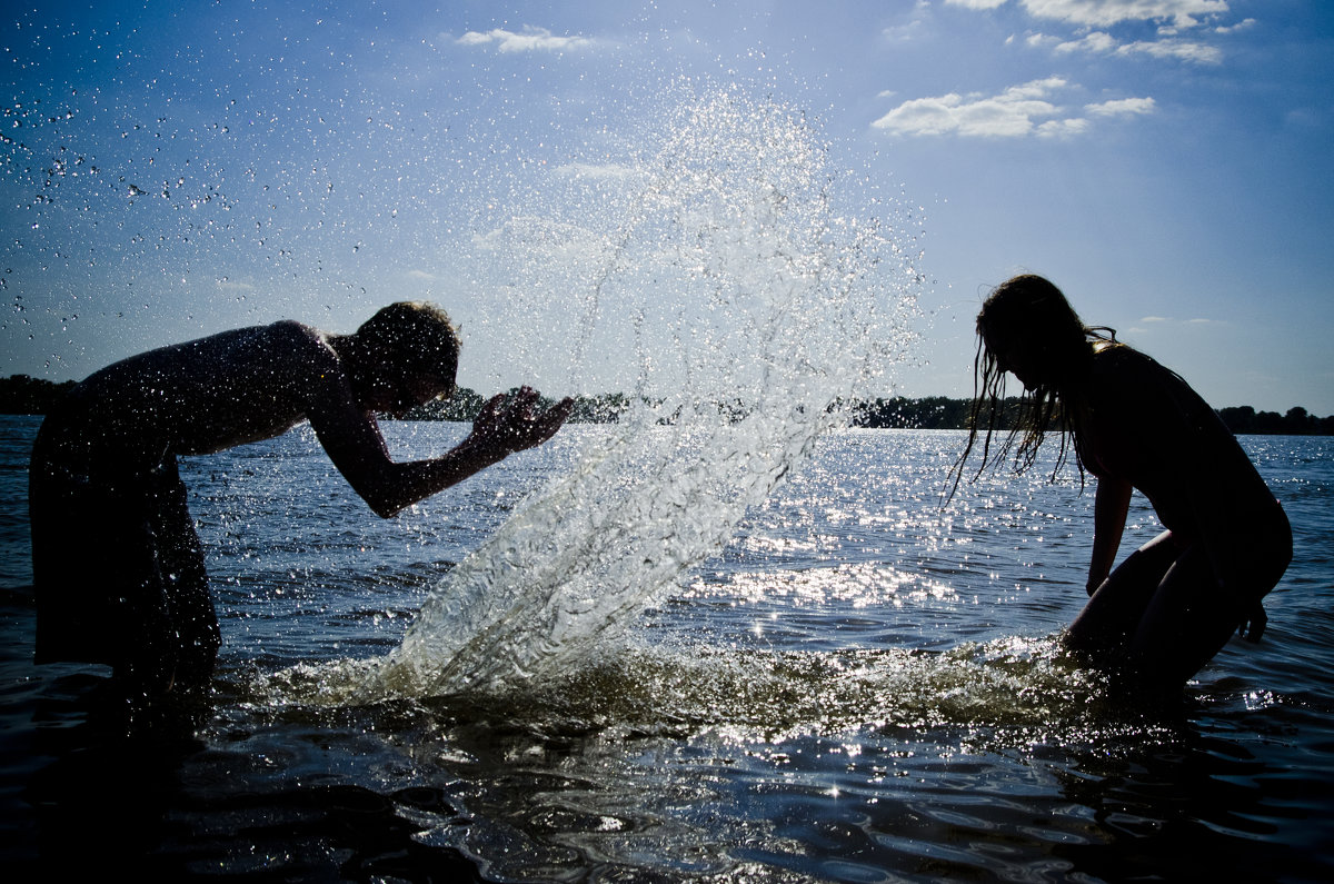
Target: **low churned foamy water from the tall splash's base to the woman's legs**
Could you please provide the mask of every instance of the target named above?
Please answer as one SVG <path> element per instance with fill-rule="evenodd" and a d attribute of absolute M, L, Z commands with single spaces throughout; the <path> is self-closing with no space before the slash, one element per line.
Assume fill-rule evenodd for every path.
<path fill-rule="evenodd" d="M 535 726 L 736 742 L 782 742 L 864 730 L 964 729 L 1006 742 L 1087 744 L 1149 733 L 1097 673 L 1055 638 L 1006 638 L 944 652 L 902 648 L 774 652 L 634 644 L 534 686 L 522 702 Z M 512 714 L 512 713 L 511 713 Z"/>

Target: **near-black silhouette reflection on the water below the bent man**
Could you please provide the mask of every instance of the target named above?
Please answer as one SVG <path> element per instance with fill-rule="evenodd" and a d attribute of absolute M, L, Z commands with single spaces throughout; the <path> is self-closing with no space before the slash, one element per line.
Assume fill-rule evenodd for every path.
<path fill-rule="evenodd" d="M 335 721 L 275 732 L 200 702 L 131 710 L 112 680 L 88 672 L 7 688 L 0 855 L 11 880 L 112 869 L 173 881 L 478 879 L 456 851 L 414 837 L 458 819 L 444 792 L 368 785 L 352 765 L 374 772 L 396 753 Z M 196 736 L 215 716 L 236 726 Z"/>

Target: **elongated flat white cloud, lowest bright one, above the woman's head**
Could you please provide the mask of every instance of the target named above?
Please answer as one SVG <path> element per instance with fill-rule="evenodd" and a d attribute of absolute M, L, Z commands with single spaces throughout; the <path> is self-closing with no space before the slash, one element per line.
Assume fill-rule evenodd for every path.
<path fill-rule="evenodd" d="M 1013 85 L 998 95 L 951 92 L 911 99 L 871 126 L 895 135 L 959 135 L 966 138 L 1070 138 L 1091 127 L 1090 118 L 1150 114 L 1151 97 L 1115 99 L 1086 104 L 1082 114 L 1070 114 L 1055 103 L 1058 93 L 1071 89 L 1063 77 L 1053 76 Z"/>

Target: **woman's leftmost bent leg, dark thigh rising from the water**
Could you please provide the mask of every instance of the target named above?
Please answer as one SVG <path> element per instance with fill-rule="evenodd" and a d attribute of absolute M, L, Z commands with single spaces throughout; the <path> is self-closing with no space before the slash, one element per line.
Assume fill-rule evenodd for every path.
<path fill-rule="evenodd" d="M 1097 665 L 1119 662 L 1179 553 L 1171 531 L 1163 531 L 1127 556 L 1070 624 L 1066 646 Z"/>

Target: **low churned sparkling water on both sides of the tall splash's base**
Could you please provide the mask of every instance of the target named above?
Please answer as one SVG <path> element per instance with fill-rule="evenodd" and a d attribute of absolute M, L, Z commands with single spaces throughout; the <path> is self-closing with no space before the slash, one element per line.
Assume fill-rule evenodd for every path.
<path fill-rule="evenodd" d="M 260 708 L 320 714 L 358 698 L 383 664 L 300 664 L 244 692 Z M 402 694 L 400 694 L 402 696 Z M 1171 717 L 1127 706 L 1058 636 L 948 650 L 774 650 L 716 642 L 615 644 L 580 666 L 402 706 L 442 726 L 503 721 L 536 738 L 599 734 L 782 744 L 840 734 L 951 732 L 964 752 L 1033 745 L 1125 750 L 1170 738 Z"/>

